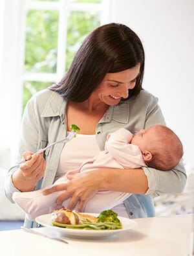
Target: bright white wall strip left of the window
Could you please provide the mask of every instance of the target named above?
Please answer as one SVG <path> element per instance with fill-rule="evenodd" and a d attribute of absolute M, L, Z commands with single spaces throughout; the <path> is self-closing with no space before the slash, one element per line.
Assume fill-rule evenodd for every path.
<path fill-rule="evenodd" d="M 0 149 L 17 145 L 21 122 L 21 64 L 23 58 L 23 0 L 0 0 Z M 12 19 L 10 19 L 12 17 Z"/>

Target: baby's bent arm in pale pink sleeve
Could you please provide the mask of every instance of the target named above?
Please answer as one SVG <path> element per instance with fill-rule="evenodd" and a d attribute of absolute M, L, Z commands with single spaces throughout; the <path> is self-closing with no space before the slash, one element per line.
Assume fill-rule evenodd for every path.
<path fill-rule="evenodd" d="M 133 134 L 131 134 L 131 132 L 121 128 L 110 135 L 105 147 L 109 154 L 124 168 L 146 166 L 138 146 L 130 144 L 132 138 Z"/>

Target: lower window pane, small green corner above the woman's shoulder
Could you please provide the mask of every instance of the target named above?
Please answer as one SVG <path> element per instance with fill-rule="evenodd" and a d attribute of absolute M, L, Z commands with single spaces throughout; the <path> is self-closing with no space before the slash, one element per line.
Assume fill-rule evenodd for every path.
<path fill-rule="evenodd" d="M 32 82 L 26 81 L 23 84 L 23 110 L 28 102 L 28 100 L 34 95 L 37 91 L 45 89 L 48 86 L 51 86 L 54 82 Z"/>

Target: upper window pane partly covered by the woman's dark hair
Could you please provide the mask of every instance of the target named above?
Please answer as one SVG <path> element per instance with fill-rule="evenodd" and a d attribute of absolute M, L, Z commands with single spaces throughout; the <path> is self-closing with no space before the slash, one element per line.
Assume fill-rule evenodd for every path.
<path fill-rule="evenodd" d="M 70 13 L 67 29 L 66 71 L 85 36 L 100 26 L 100 13 L 74 11 Z"/>

